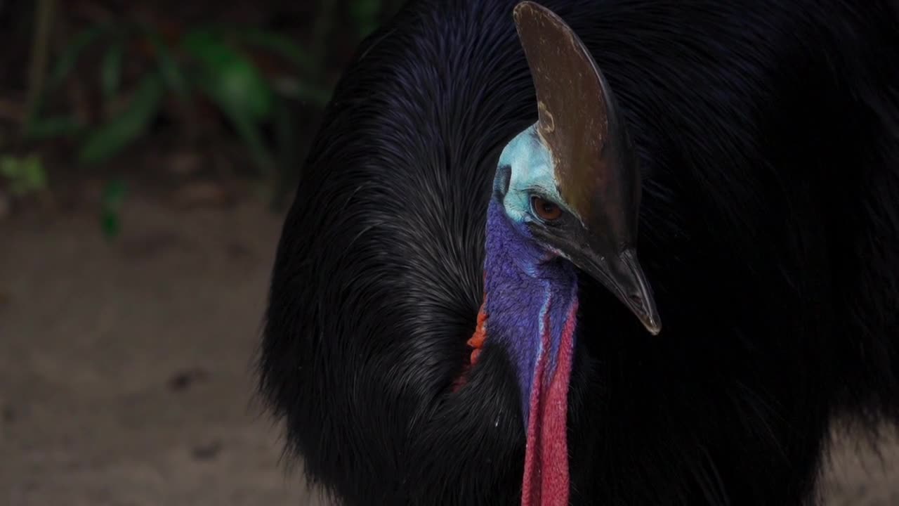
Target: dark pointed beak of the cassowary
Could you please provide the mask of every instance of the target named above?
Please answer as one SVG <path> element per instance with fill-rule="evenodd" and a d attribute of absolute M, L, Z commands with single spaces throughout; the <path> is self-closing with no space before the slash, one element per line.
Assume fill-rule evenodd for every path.
<path fill-rule="evenodd" d="M 662 320 L 655 309 L 653 291 L 646 281 L 636 250 L 626 248 L 618 255 L 599 257 L 588 253 L 572 262 L 608 288 L 653 335 L 662 331 Z"/>

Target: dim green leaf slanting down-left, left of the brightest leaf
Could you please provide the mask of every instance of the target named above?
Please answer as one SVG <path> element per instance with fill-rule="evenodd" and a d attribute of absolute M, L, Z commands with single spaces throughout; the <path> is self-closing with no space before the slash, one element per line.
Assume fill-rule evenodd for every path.
<path fill-rule="evenodd" d="M 144 77 L 128 107 L 90 134 L 78 153 L 83 164 L 99 163 L 147 131 L 162 102 L 164 87 L 156 74 Z"/>

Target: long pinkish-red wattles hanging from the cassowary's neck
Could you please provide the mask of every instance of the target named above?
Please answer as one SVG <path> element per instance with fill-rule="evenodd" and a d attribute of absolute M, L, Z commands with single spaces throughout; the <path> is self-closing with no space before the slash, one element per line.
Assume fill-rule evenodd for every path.
<path fill-rule="evenodd" d="M 542 347 L 530 393 L 530 420 L 524 456 L 521 506 L 568 505 L 568 382 L 574 354 L 574 321 L 577 301 L 572 303 L 560 337 L 556 367 L 546 381 L 551 350 L 550 312 L 544 313 Z"/>

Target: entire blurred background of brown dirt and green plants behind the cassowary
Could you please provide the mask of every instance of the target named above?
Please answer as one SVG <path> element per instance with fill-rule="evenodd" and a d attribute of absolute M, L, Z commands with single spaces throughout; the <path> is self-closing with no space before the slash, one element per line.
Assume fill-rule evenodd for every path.
<path fill-rule="evenodd" d="M 254 352 L 323 107 L 402 3 L 0 0 L 0 505 L 323 503 Z M 863 443 L 826 503 L 899 504 Z"/>

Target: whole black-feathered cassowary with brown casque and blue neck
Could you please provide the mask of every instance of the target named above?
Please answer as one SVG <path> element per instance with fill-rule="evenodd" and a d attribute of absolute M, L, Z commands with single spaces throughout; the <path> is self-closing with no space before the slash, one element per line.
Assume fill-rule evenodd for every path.
<path fill-rule="evenodd" d="M 541 4 L 414 1 L 337 86 L 289 451 L 348 505 L 814 502 L 834 420 L 899 420 L 895 5 Z"/>

